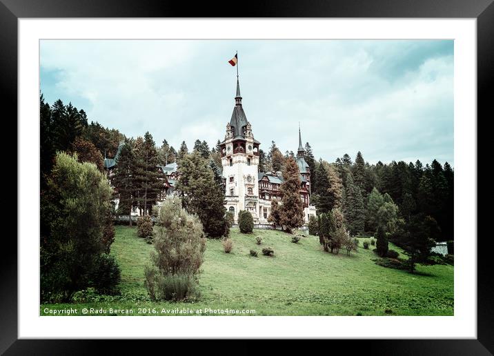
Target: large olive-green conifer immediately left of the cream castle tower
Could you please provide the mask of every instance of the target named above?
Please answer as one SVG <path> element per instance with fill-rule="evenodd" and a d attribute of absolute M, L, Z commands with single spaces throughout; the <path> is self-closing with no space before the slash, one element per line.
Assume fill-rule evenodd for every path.
<path fill-rule="evenodd" d="M 215 174 L 208 161 L 199 152 L 179 159 L 177 191 L 182 204 L 190 214 L 197 214 L 208 237 L 218 238 L 229 233 L 224 191 L 215 181 Z"/>

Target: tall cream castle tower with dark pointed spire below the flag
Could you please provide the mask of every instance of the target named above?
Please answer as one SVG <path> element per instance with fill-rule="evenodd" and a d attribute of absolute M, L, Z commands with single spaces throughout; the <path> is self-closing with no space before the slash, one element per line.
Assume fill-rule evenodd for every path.
<path fill-rule="evenodd" d="M 239 79 L 237 76 L 237 95 L 230 122 L 226 125 L 226 135 L 221 142 L 221 165 L 225 184 L 225 207 L 233 212 L 237 222 L 240 210 L 248 210 L 254 221 L 259 221 L 257 206 L 259 183 L 257 166 L 259 165 L 259 144 L 254 139 L 252 127 L 242 107 Z"/>

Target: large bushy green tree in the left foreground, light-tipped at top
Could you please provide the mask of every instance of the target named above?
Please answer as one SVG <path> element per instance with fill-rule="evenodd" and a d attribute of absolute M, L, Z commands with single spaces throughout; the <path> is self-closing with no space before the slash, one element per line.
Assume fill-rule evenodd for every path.
<path fill-rule="evenodd" d="M 96 259 L 109 250 L 104 237 L 112 189 L 93 164 L 57 154 L 41 196 L 41 300 L 68 301 L 89 286 Z"/>

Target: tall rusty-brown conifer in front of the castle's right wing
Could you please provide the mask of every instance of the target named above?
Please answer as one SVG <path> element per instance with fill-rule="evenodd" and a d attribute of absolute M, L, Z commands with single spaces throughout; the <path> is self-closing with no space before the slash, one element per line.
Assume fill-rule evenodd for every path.
<path fill-rule="evenodd" d="M 289 157 L 283 170 L 283 183 L 281 190 L 280 223 L 283 228 L 291 232 L 304 224 L 304 205 L 300 199 L 299 168 L 295 159 Z"/>

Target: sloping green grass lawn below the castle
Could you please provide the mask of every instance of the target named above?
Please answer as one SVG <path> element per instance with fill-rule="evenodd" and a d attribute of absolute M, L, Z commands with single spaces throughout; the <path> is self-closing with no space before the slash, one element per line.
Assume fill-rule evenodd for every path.
<path fill-rule="evenodd" d="M 209 309 L 253 309 L 255 315 L 453 315 L 453 266 L 417 266 L 417 273 L 377 266 L 372 252 L 362 247 L 357 253 L 325 253 L 315 236 L 293 244 L 290 235 L 275 230 L 254 230 L 244 235 L 233 228 L 233 251 L 224 253 L 221 241 L 208 240 L 201 297 L 195 303 L 153 302 L 146 297 L 144 265 L 152 245 L 137 237 L 137 230 L 116 226 L 112 255 L 121 267 L 124 297 L 115 301 L 85 304 L 43 304 L 41 315 L 50 310 L 103 308 L 132 309 L 133 315 L 170 315 L 170 309 L 189 308 L 204 315 Z M 264 238 L 259 246 L 255 237 Z M 274 257 L 261 254 L 271 247 Z M 402 251 L 390 244 L 390 248 Z M 249 250 L 259 257 L 251 257 Z M 148 310 L 151 308 L 151 310 Z M 153 313 L 152 308 L 155 308 Z M 150 313 L 149 313 L 150 312 Z"/>

